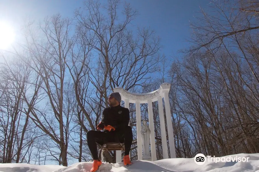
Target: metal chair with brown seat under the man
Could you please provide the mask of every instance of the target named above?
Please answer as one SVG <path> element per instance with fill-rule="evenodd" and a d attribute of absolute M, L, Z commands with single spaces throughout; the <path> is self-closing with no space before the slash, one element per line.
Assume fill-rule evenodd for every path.
<path fill-rule="evenodd" d="M 120 142 L 108 142 L 106 144 L 103 144 L 102 148 L 100 148 L 99 150 L 99 155 L 98 155 L 98 158 L 101 159 L 101 161 L 103 161 L 104 150 L 107 150 L 107 151 L 125 150 L 125 145 L 124 143 L 120 143 Z"/>

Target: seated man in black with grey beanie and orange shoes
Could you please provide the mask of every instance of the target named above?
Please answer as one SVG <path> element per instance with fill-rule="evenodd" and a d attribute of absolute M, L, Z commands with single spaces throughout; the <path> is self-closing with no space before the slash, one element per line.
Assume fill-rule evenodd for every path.
<path fill-rule="evenodd" d="M 120 105 L 121 95 L 117 92 L 111 93 L 108 103 L 110 107 L 103 110 L 102 121 L 97 126 L 98 130 L 104 129 L 104 131 L 90 130 L 87 132 L 87 144 L 94 159 L 91 172 L 98 171 L 102 164 L 100 159 L 98 159 L 96 142 L 101 145 L 108 142 L 124 142 L 124 165 L 128 166 L 132 164 L 129 159 L 129 151 L 133 140 L 132 128 L 128 126 L 129 109 Z"/>

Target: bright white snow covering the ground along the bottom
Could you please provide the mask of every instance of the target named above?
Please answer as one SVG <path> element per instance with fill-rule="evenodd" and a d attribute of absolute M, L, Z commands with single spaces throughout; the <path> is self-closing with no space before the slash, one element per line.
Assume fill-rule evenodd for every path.
<path fill-rule="evenodd" d="M 247 157 L 247 162 L 209 162 L 198 165 L 194 158 L 162 159 L 159 161 L 132 161 L 132 165 L 124 167 L 122 163 L 102 163 L 98 172 L 259 172 L 259 153 L 236 154 L 224 156 L 237 158 Z M 0 164 L 0 172 L 88 172 L 92 162 L 75 163 L 68 167 L 59 165 L 32 165 L 32 164 Z"/>

